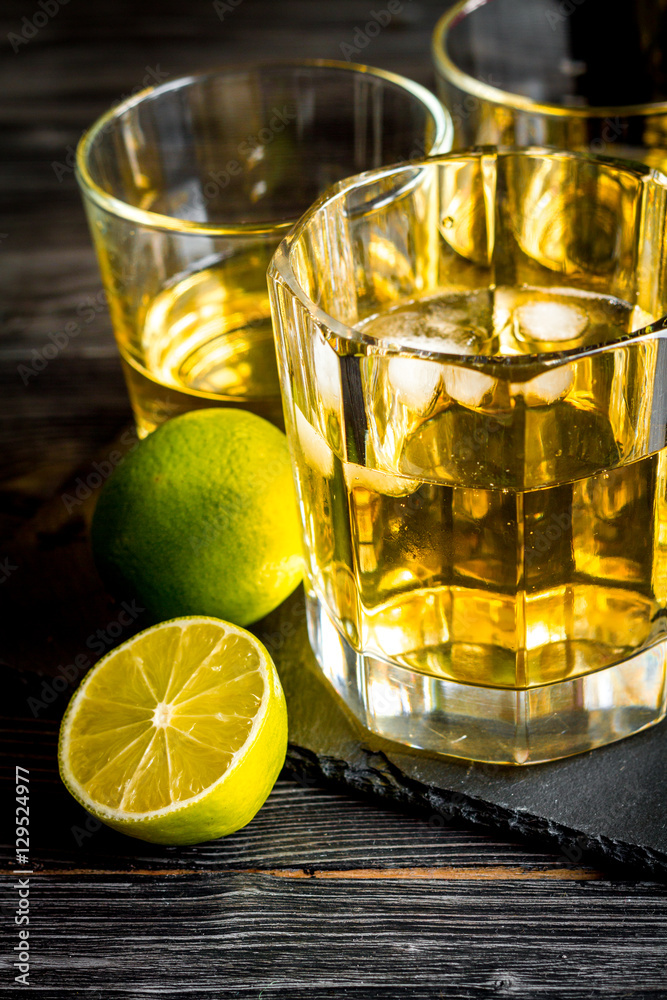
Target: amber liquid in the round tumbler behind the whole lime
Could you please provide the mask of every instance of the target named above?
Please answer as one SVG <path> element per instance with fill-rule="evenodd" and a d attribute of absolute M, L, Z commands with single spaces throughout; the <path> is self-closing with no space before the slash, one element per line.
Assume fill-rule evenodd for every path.
<path fill-rule="evenodd" d="M 163 288 L 136 329 L 121 329 L 140 437 L 179 413 L 225 404 L 283 426 L 265 272 L 264 255 L 237 254 Z"/>

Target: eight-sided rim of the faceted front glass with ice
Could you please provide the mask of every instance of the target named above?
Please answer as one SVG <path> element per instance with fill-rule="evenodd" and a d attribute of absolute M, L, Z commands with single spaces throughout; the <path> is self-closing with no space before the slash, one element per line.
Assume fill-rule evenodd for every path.
<path fill-rule="evenodd" d="M 554 160 L 573 159 L 584 162 L 588 161 L 595 164 L 607 164 L 613 167 L 620 165 L 630 173 L 640 177 L 643 183 L 653 181 L 667 192 L 667 176 L 639 161 L 624 160 L 620 157 L 596 156 L 592 153 L 576 152 L 574 150 L 553 149 L 548 146 L 474 146 L 469 149 L 453 150 L 434 156 L 422 157 L 419 160 L 406 160 L 403 163 L 395 163 L 388 167 L 379 167 L 356 174 L 353 177 L 347 177 L 327 188 L 317 201 L 313 202 L 310 208 L 304 212 L 297 224 L 279 244 L 269 263 L 268 277 L 275 277 L 287 286 L 291 294 L 298 299 L 312 320 L 320 327 L 325 337 L 332 335 L 350 344 L 363 344 L 371 348 L 377 348 L 378 353 L 382 353 L 388 357 L 423 358 L 424 360 L 441 362 L 443 364 L 456 364 L 458 367 L 466 366 L 480 370 L 490 369 L 493 370 L 496 377 L 500 376 L 503 370 L 511 370 L 513 376 L 516 376 L 517 369 L 528 367 L 534 369 L 538 363 L 545 369 L 556 368 L 567 364 L 569 361 L 576 361 L 582 357 L 600 354 L 604 351 L 614 349 L 619 345 L 626 344 L 629 341 L 638 340 L 641 337 L 657 337 L 667 331 L 667 314 L 665 314 L 648 326 L 642 327 L 639 330 L 633 330 L 631 333 L 618 337 L 616 340 L 607 341 L 602 344 L 584 345 L 562 351 L 543 351 L 539 354 L 448 354 L 442 351 L 419 348 L 414 346 L 414 344 L 387 344 L 384 338 L 373 337 L 356 327 L 348 326 L 337 320 L 334 316 L 331 316 L 324 309 L 320 308 L 306 294 L 292 267 L 291 251 L 296 241 L 305 231 L 308 223 L 322 209 L 329 207 L 355 188 L 362 187 L 364 184 L 372 183 L 373 181 L 382 180 L 385 177 L 390 177 L 392 174 L 399 173 L 410 167 L 419 170 L 420 167 L 428 167 L 429 164 L 446 163 L 450 160 L 455 161 L 489 155 L 540 156 Z M 534 374 L 535 372 L 532 371 L 531 377 Z"/>

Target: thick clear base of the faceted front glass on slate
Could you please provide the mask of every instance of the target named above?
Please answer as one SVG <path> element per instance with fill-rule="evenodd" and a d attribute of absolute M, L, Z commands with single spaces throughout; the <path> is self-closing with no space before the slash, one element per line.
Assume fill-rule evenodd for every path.
<path fill-rule="evenodd" d="M 630 659 L 523 690 L 462 684 L 358 653 L 307 596 L 322 672 L 362 725 L 467 760 L 537 764 L 631 736 L 665 715 L 667 638 Z"/>

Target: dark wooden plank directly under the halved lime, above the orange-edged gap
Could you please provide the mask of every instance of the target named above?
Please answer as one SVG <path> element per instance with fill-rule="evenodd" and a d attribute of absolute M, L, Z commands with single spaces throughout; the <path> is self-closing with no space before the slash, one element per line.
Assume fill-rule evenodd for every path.
<path fill-rule="evenodd" d="M 33 731 L 35 729 L 33 723 Z M 47 726 L 42 724 L 42 730 Z M 383 870 L 392 877 L 423 878 L 601 878 L 593 868 L 545 850 L 456 828 L 435 815 L 407 816 L 361 798 L 283 779 L 252 823 L 224 840 L 187 848 L 165 848 L 133 840 L 95 821 L 70 798 L 57 777 L 56 727 L 49 737 L 9 734 L 0 762 L 13 778 L 16 764 L 30 769 L 31 867 L 50 873 L 76 871 L 277 870 L 295 873 Z M 32 744 L 32 746 L 31 746 Z M 11 782 L 3 783 L 11 802 Z M 9 817 L 5 816 L 5 820 Z M 0 846 L 0 869 L 12 870 L 10 827 Z"/>

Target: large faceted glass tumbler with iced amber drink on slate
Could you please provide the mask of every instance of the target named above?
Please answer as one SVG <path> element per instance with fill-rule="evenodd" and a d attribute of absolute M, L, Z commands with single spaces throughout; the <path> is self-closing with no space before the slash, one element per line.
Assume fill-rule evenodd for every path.
<path fill-rule="evenodd" d="M 310 640 L 472 760 L 665 712 L 667 178 L 488 147 L 332 187 L 269 269 Z"/>

